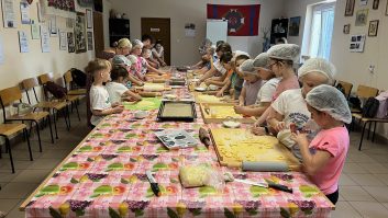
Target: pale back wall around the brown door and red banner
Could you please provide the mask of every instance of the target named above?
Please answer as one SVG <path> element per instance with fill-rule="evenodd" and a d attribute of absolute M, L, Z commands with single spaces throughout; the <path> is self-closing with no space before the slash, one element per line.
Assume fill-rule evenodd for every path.
<path fill-rule="evenodd" d="M 220 4 L 262 4 L 259 28 L 270 27 L 274 18 L 282 15 L 284 0 L 114 0 L 112 9 L 126 13 L 131 21 L 131 39 L 141 37 L 141 18 L 171 19 L 171 65 L 191 65 L 199 59 L 198 47 L 206 36 L 207 3 Z M 195 38 L 185 36 L 185 24 L 195 23 Z M 232 49 L 246 50 L 256 56 L 262 50 L 262 37 L 234 36 L 228 37 Z M 108 38 L 106 38 L 108 41 Z"/>

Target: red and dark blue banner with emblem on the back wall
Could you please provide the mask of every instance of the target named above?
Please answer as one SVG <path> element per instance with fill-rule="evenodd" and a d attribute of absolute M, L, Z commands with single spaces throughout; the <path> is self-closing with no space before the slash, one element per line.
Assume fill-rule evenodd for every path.
<path fill-rule="evenodd" d="M 228 35 L 258 35 L 260 4 L 226 5 L 208 4 L 208 19 L 228 20 Z"/>

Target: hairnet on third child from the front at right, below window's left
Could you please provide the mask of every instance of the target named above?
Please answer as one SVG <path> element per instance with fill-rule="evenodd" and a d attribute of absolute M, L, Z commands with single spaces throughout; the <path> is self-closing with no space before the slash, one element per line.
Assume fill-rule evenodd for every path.
<path fill-rule="evenodd" d="M 298 62 L 300 47 L 296 44 L 279 44 L 270 47 L 267 53 L 270 58 Z"/>

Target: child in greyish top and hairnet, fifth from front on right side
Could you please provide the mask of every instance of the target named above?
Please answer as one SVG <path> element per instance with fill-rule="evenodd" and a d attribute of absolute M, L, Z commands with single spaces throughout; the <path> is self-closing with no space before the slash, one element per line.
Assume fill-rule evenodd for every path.
<path fill-rule="evenodd" d="M 263 81 L 257 76 L 256 69 L 253 67 L 253 59 L 245 60 L 240 70 L 244 74 L 243 90 L 239 97 L 240 106 L 248 106 L 256 102 L 258 90 L 263 85 Z"/>

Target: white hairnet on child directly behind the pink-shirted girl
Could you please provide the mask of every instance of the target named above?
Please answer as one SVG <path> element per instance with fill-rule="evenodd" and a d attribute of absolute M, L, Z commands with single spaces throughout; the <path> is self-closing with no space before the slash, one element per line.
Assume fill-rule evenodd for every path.
<path fill-rule="evenodd" d="M 323 58 L 308 59 L 298 70 L 298 78 L 302 78 L 309 72 L 320 72 L 325 76 L 329 83 L 332 84 L 335 77 L 335 67 Z"/>

